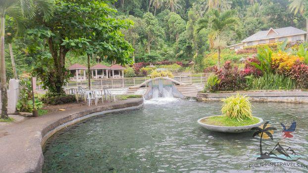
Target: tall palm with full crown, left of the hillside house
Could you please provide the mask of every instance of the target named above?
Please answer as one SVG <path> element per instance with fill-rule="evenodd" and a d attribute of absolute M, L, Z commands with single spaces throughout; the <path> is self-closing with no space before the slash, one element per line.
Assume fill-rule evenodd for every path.
<path fill-rule="evenodd" d="M 208 39 L 211 48 L 218 49 L 217 68 L 220 67 L 220 51 L 224 47 L 225 42 L 222 41 L 221 35 L 229 30 L 234 31 L 238 35 L 238 28 L 240 26 L 240 19 L 236 16 L 235 10 L 226 10 L 220 12 L 218 9 L 211 9 L 208 16 L 197 21 L 196 33 L 203 29 L 207 29 Z"/>

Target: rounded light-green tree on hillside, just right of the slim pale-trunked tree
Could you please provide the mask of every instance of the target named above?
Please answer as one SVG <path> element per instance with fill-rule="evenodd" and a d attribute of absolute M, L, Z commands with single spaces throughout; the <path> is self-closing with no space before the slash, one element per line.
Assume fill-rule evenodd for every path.
<path fill-rule="evenodd" d="M 185 20 L 180 15 L 171 12 L 165 17 L 165 22 L 170 39 L 179 39 L 179 35 L 185 30 Z"/>

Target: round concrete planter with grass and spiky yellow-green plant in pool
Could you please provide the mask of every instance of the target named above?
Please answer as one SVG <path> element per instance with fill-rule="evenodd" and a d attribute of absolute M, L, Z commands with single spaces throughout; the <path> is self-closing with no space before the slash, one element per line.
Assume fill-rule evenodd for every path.
<path fill-rule="evenodd" d="M 222 115 L 201 118 L 198 120 L 200 126 L 211 131 L 239 133 L 262 124 L 261 118 L 253 116 L 252 105 L 246 95 L 238 93 L 221 101 Z"/>

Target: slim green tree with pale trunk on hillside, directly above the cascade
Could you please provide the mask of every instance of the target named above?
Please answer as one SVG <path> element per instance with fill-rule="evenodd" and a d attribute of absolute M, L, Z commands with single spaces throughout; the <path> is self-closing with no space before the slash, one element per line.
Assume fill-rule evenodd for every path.
<path fill-rule="evenodd" d="M 146 35 L 147 35 L 147 48 L 148 48 L 148 54 L 150 54 L 151 51 L 151 44 L 157 40 L 157 38 L 162 37 L 163 35 L 163 30 L 159 26 L 158 20 L 155 18 L 155 16 L 147 12 L 144 16 L 143 19 L 145 21 L 146 27 Z"/>

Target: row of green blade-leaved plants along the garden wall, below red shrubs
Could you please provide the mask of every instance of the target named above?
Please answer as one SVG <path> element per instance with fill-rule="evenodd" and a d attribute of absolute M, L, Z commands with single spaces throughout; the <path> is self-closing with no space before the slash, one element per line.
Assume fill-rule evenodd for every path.
<path fill-rule="evenodd" d="M 266 73 L 261 77 L 246 76 L 246 89 L 296 89 L 296 81 L 281 74 Z"/>

